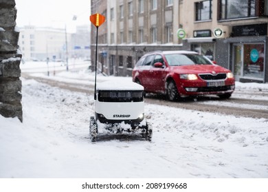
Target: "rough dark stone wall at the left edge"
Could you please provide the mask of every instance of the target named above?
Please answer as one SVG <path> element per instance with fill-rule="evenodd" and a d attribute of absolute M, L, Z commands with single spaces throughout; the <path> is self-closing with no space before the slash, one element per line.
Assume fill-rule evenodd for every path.
<path fill-rule="evenodd" d="M 15 0 L 0 0 L 0 115 L 22 122 L 21 53 L 18 49 Z"/>

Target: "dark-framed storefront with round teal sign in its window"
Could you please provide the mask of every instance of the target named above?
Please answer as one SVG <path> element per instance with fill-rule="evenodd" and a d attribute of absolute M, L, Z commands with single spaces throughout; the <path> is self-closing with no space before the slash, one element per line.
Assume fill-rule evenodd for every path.
<path fill-rule="evenodd" d="M 232 27 L 230 66 L 237 81 L 268 82 L 267 24 Z"/>

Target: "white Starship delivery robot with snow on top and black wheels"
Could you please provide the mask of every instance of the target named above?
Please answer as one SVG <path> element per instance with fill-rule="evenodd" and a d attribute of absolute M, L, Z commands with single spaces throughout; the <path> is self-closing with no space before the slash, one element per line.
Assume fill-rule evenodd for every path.
<path fill-rule="evenodd" d="M 89 134 L 142 134 L 151 141 L 153 130 L 144 117 L 144 87 L 135 82 L 107 81 L 98 84 L 95 117 L 90 117 Z"/>

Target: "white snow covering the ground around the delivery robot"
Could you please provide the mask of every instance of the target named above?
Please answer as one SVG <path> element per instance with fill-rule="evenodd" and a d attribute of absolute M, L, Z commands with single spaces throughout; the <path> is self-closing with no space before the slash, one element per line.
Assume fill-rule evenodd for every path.
<path fill-rule="evenodd" d="M 30 68 L 21 66 L 22 71 Z M 92 84 L 93 73 L 58 72 L 48 78 Z M 100 81 L 113 78 L 131 81 L 98 76 Z M 21 80 L 23 123 L 0 115 L 0 178 L 268 178 L 268 117 L 146 104 L 151 142 L 104 136 L 91 143 L 93 95 Z M 236 88 L 268 89 L 268 84 L 237 82 Z"/>

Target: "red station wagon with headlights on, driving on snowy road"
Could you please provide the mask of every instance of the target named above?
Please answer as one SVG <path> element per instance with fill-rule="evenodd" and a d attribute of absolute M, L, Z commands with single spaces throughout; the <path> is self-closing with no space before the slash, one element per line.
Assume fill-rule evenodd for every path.
<path fill-rule="evenodd" d="M 142 56 L 133 69 L 133 82 L 146 93 L 161 93 L 175 101 L 181 97 L 234 92 L 234 75 L 194 51 L 154 51 Z"/>

